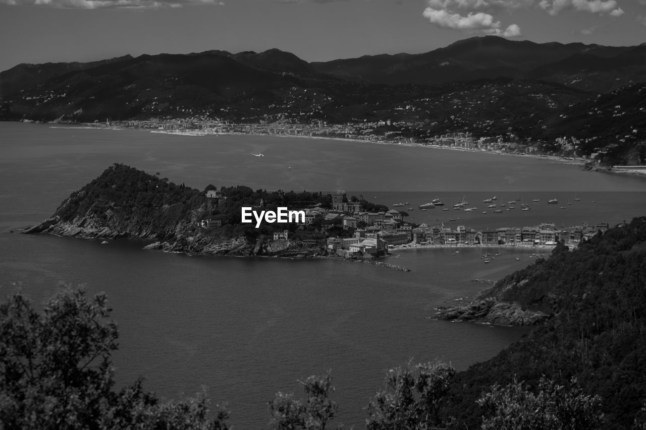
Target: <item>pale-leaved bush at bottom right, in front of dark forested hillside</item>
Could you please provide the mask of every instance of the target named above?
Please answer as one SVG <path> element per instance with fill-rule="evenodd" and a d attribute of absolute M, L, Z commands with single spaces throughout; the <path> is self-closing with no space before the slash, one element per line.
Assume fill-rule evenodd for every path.
<path fill-rule="evenodd" d="M 491 391 L 477 400 L 483 409 L 483 430 L 591 430 L 603 428 L 599 411 L 601 397 L 583 394 L 576 379 L 572 389 L 543 376 L 537 392 L 523 382 L 513 382 Z"/>

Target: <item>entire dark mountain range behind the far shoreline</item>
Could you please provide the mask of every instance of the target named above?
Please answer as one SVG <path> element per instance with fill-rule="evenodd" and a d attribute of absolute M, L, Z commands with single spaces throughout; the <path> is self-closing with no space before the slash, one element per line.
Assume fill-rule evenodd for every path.
<path fill-rule="evenodd" d="M 0 120 L 391 119 L 415 123 L 412 138 L 460 131 L 601 142 L 588 145 L 589 154 L 605 145 L 643 141 L 643 94 L 646 43 L 601 46 L 485 36 L 424 54 L 314 63 L 271 49 L 21 64 L 0 72 Z"/>

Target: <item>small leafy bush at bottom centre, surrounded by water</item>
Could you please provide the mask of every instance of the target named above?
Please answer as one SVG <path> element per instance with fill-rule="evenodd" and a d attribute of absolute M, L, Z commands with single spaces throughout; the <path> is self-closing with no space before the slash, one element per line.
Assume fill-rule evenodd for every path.
<path fill-rule="evenodd" d="M 325 376 L 309 376 L 298 380 L 303 385 L 306 400 L 294 398 L 293 393 L 276 393 L 269 402 L 271 428 L 276 430 L 324 430 L 337 413 L 337 403 L 329 400 L 334 391 L 329 371 Z"/>

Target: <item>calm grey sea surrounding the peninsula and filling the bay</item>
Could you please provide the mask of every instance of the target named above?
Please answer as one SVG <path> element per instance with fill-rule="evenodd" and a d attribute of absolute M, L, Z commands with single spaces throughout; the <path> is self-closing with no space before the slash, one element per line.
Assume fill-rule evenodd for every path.
<path fill-rule="evenodd" d="M 40 306 L 63 285 L 105 292 L 120 333 L 118 386 L 143 376 L 161 398 L 206 393 L 212 405 L 227 405 L 236 429 L 266 429 L 275 393 L 302 395 L 297 381 L 311 374 L 331 371 L 335 423 L 360 428 L 389 369 L 439 359 L 461 370 L 492 358 L 529 329 L 438 321 L 435 308 L 468 302 L 487 286 L 474 280 L 497 280 L 550 251 L 395 250 L 384 261 L 411 269 L 403 272 L 351 261 L 187 256 L 144 251 L 145 241 L 21 229 L 113 163 L 197 189 L 346 190 L 389 207 L 405 203 L 396 209 L 428 225 L 615 225 L 646 215 L 646 178 L 485 152 L 17 123 L 0 123 L 0 151 L 0 294 L 22 291 Z M 483 202 L 493 197 L 532 210 L 494 213 Z M 444 207 L 419 209 L 433 199 Z M 452 209 L 462 201 L 478 210 Z M 485 264 L 484 252 L 500 255 Z"/>

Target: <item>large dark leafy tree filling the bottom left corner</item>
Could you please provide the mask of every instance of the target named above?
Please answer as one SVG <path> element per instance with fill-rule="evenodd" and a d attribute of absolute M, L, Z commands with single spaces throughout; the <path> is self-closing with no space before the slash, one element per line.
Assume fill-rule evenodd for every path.
<path fill-rule="evenodd" d="M 160 402 L 141 381 L 113 390 L 116 324 L 105 294 L 59 292 L 37 312 L 22 294 L 0 305 L 0 423 L 10 429 L 226 429 L 203 397 Z"/>

